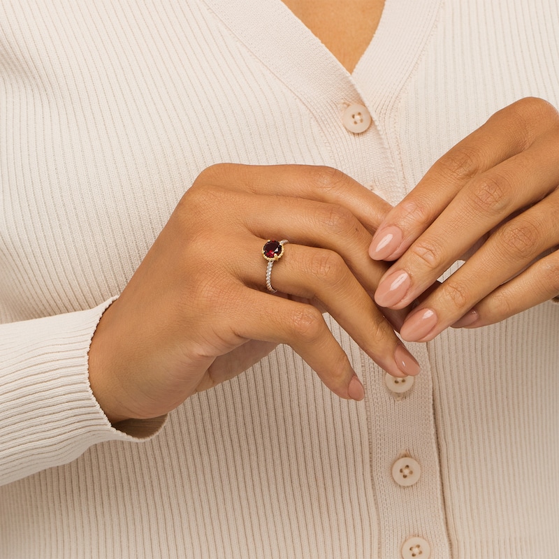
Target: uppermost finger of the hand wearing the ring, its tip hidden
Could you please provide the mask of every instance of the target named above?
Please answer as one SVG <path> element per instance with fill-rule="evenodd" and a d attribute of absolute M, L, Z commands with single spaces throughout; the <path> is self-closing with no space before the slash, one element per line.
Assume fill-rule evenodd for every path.
<path fill-rule="evenodd" d="M 310 165 L 220 164 L 205 170 L 214 184 L 268 196 L 306 198 L 341 205 L 372 233 L 391 205 L 332 167 Z M 235 180 L 236 179 L 236 180 Z M 268 208 L 267 214 L 273 208 Z"/>

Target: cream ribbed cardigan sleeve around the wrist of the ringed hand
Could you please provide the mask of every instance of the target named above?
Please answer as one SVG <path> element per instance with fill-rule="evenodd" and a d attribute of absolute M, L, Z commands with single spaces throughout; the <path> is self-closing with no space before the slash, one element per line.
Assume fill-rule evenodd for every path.
<path fill-rule="evenodd" d="M 142 441 L 165 417 L 111 426 L 89 386 L 87 354 L 112 303 L 0 325 L 0 485 L 78 458 L 98 442 Z"/>

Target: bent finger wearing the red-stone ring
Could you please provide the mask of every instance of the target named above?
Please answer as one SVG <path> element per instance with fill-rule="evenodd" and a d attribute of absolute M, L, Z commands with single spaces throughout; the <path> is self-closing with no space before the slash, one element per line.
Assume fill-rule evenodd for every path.
<path fill-rule="evenodd" d="M 256 241 L 254 245 L 256 252 Z M 248 265 L 243 273 L 245 282 L 256 289 L 263 289 L 264 275 L 264 266 L 254 265 Z M 415 359 L 336 252 L 285 245 L 284 256 L 273 264 L 271 283 L 282 293 L 317 301 L 317 306 L 329 312 L 359 347 L 392 375 L 419 372 Z"/>

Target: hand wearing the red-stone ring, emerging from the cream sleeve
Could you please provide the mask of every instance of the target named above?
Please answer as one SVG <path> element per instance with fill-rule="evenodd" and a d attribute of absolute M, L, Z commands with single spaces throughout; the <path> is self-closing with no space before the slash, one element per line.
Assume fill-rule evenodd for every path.
<path fill-rule="evenodd" d="M 372 300 L 387 265 L 368 246 L 390 208 L 332 168 L 205 169 L 99 321 L 89 380 L 108 419 L 164 415 L 280 343 L 335 394 L 361 400 L 323 311 L 384 370 L 418 372 Z M 266 291 L 261 254 L 270 238 L 290 241 L 273 266 L 276 295 Z"/>

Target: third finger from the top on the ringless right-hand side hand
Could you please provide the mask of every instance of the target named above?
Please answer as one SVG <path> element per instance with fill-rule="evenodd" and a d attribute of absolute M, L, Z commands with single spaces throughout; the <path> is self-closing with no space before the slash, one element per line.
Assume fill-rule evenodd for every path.
<path fill-rule="evenodd" d="M 524 277 L 526 272 L 518 273 L 557 245 L 559 222 L 554 216 L 558 212 L 559 192 L 556 191 L 502 225 L 484 247 L 409 314 L 401 329 L 402 337 L 408 341 L 432 340 L 444 328 L 456 324 L 460 317 L 463 318 L 458 326 L 478 324 L 478 302 L 495 290 L 502 292 L 500 286 L 507 285 L 511 277 Z M 549 279 L 546 282 L 550 283 Z M 557 282 L 551 282 L 549 298 L 556 295 L 554 283 Z M 535 296 L 539 296 L 537 290 Z M 521 305 L 530 297 L 524 297 Z"/>

